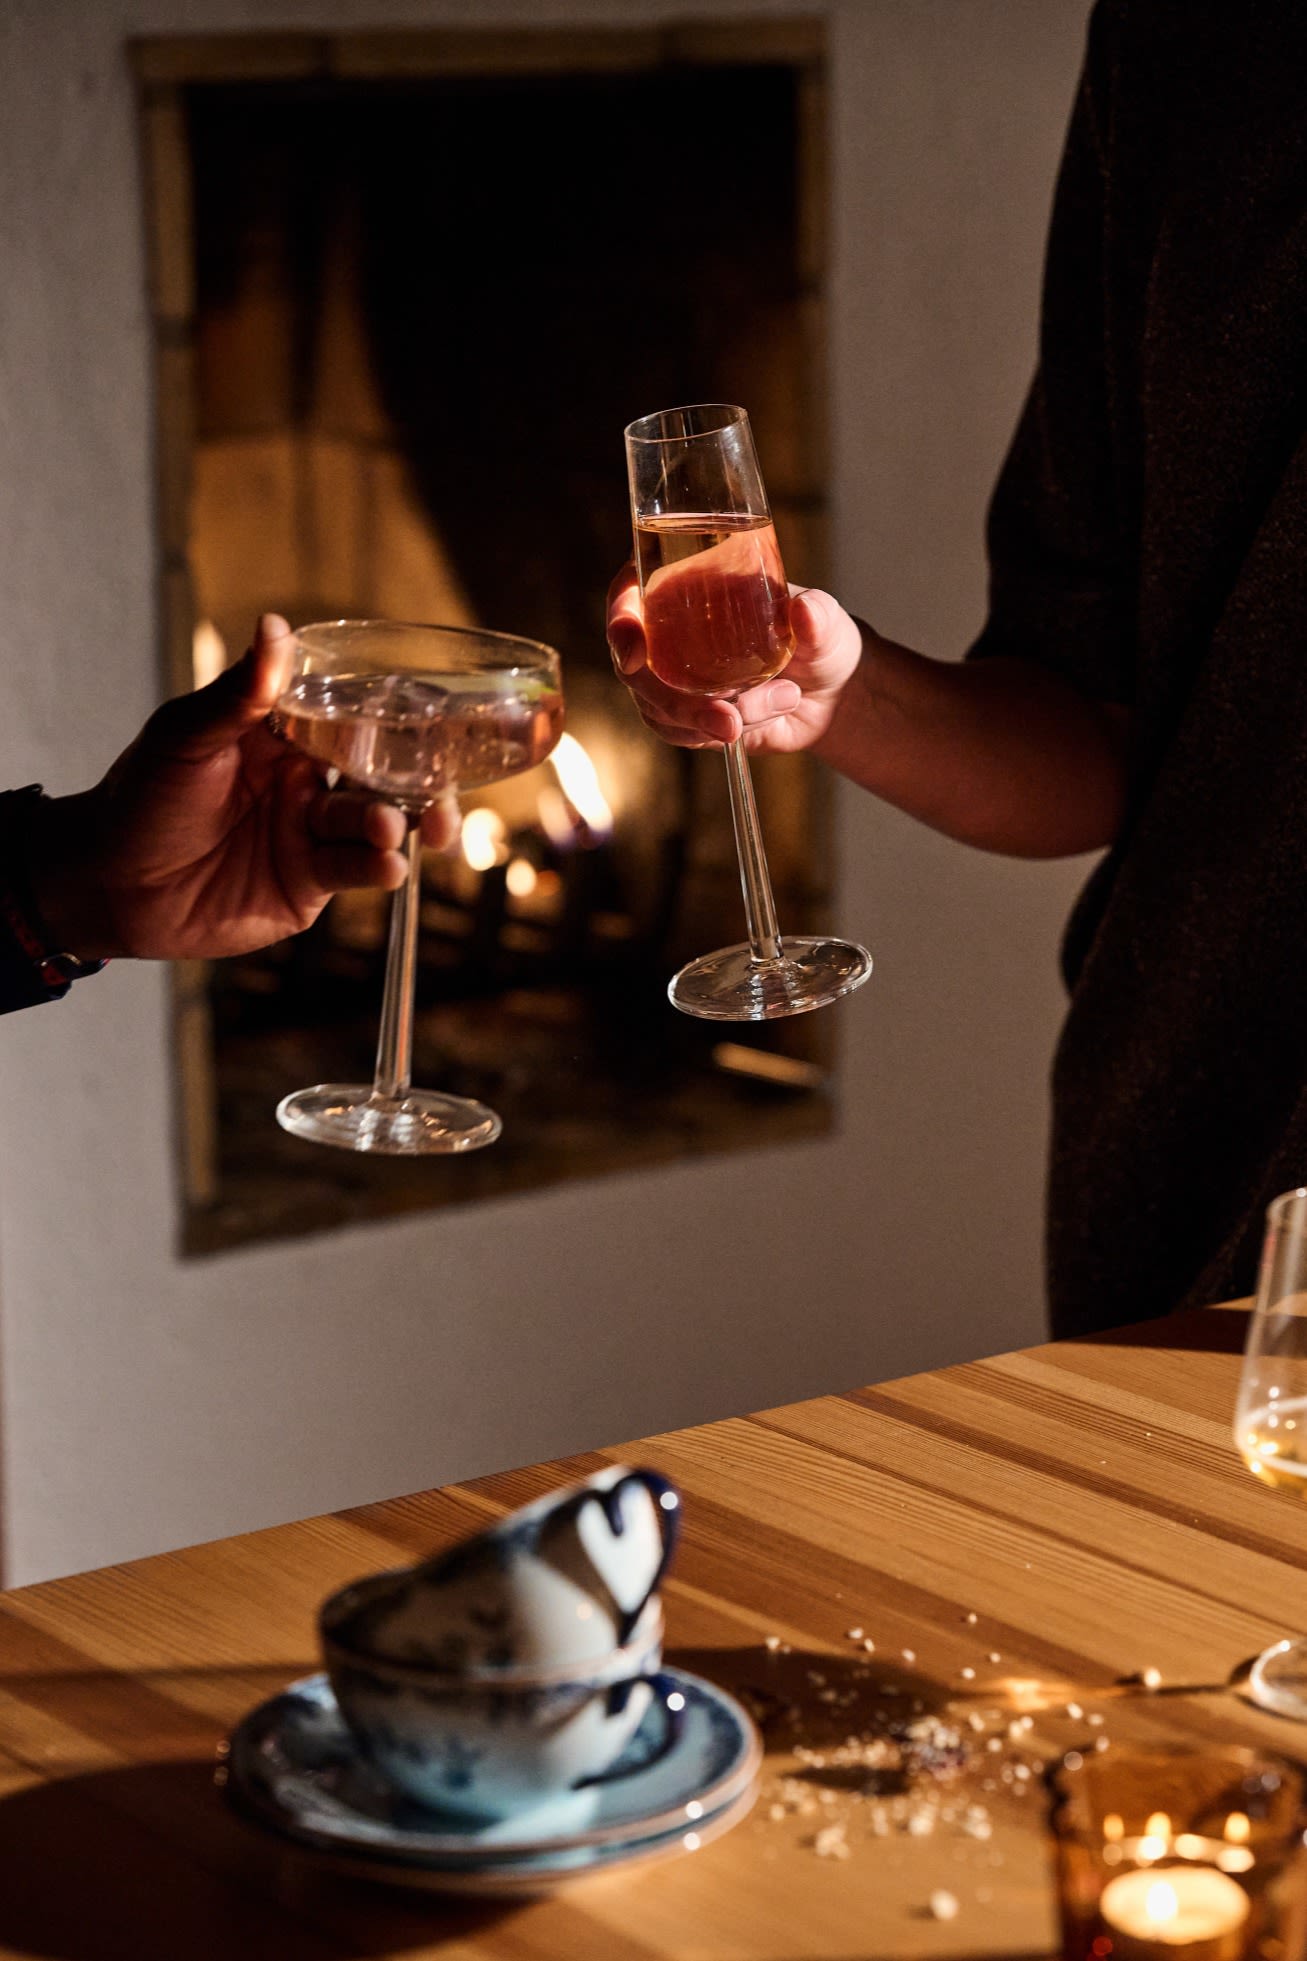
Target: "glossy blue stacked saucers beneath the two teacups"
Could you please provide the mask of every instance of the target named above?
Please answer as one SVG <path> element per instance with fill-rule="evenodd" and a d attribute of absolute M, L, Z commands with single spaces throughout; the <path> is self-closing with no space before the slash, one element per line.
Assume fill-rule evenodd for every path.
<path fill-rule="evenodd" d="M 655 1763 L 661 1716 L 626 1747 L 632 1769 L 495 1824 L 426 1810 L 359 1757 L 326 1675 L 261 1702 L 232 1734 L 226 1792 L 251 1822 L 332 1865 L 445 1892 L 546 1892 L 567 1879 L 697 1851 L 750 1810 L 761 1765 L 754 1724 L 726 1690 L 667 1671 L 683 1728 Z M 646 1735 L 646 1726 L 650 1734 Z"/>

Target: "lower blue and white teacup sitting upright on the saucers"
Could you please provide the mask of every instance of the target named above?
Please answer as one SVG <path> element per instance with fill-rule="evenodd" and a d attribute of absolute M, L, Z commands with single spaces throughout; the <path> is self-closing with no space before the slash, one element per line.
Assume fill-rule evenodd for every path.
<path fill-rule="evenodd" d="M 349 1614 L 387 1579 L 383 1573 L 359 1581 L 334 1598 Z M 661 1710 L 661 1732 L 638 1769 L 665 1755 L 679 1734 L 681 1696 L 675 1681 L 659 1673 L 663 1614 L 657 1600 L 650 1600 L 628 1643 L 559 1669 L 449 1675 L 416 1661 L 367 1655 L 336 1639 L 326 1622 L 324 1610 L 322 1647 L 332 1688 L 361 1755 L 389 1785 L 436 1810 L 508 1818 L 561 1792 L 604 1783 L 652 1704 Z"/>

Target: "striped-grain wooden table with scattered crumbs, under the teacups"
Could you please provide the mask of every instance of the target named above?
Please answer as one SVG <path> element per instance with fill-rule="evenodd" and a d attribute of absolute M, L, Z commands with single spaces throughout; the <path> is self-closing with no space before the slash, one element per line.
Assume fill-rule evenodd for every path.
<path fill-rule="evenodd" d="M 1307 1749 L 1230 1686 L 1307 1628 L 1307 1512 L 1230 1447 L 1242 1333 L 1211 1312 L 1040 1347 L 2 1594 L 0 1955 L 1046 1955 L 1042 1761 Z M 230 1812 L 216 1749 L 316 1665 L 328 1588 L 616 1459 L 685 1492 L 673 1659 L 765 1718 L 744 1824 L 485 1904 L 341 1879 Z M 895 1796 L 911 1718 L 967 1761 Z"/>

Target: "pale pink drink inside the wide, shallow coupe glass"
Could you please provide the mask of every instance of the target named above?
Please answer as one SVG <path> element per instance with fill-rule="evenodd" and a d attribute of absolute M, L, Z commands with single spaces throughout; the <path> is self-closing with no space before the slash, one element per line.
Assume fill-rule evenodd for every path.
<path fill-rule="evenodd" d="M 557 688 L 453 675 L 302 675 L 277 728 L 349 782 L 420 810 L 544 763 L 563 729 Z"/>

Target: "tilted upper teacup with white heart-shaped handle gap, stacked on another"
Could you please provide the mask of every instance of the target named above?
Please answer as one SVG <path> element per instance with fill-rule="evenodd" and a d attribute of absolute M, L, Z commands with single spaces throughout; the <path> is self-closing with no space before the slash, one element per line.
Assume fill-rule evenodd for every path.
<path fill-rule="evenodd" d="M 677 1526 L 667 1479 L 612 1465 L 353 1598 L 336 1594 L 324 1635 L 438 1675 L 601 1661 L 640 1626 Z"/>

